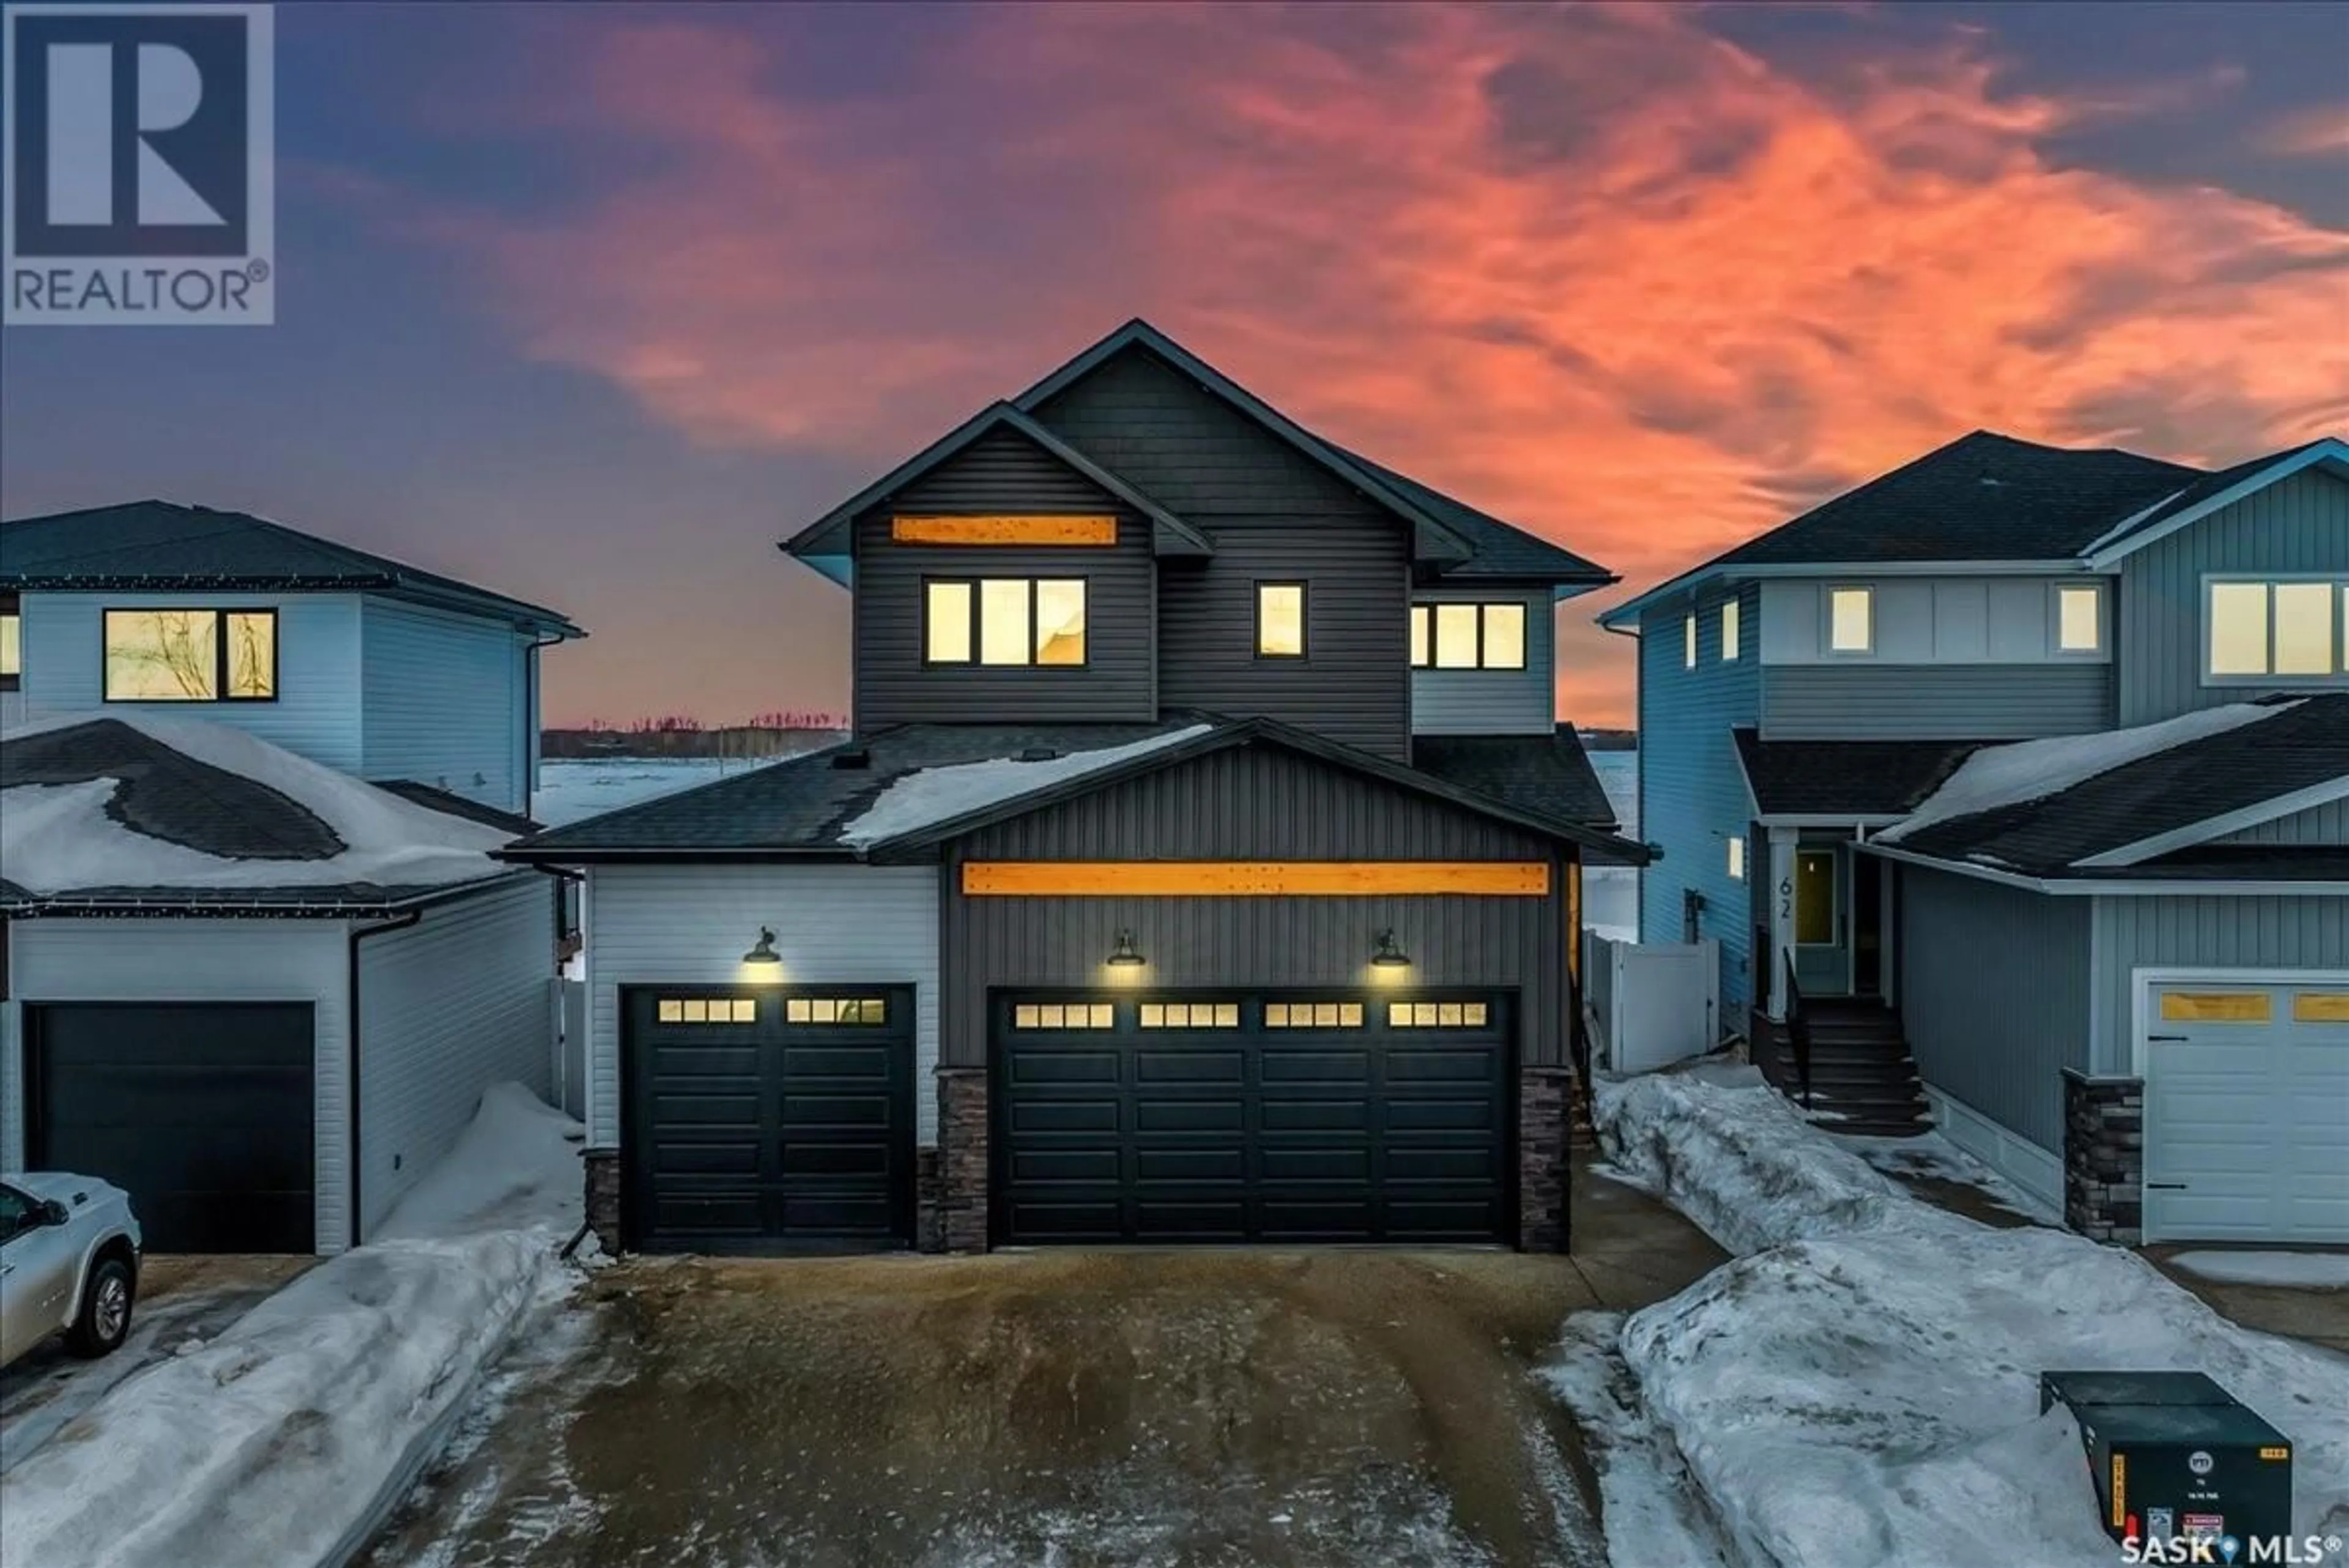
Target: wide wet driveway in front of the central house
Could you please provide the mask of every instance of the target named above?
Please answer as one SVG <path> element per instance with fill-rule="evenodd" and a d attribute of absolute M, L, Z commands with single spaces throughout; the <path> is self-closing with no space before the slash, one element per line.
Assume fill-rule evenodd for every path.
<path fill-rule="evenodd" d="M 1532 1368 L 1571 1312 L 1719 1253 L 1635 1255 L 1642 1222 L 1684 1222 L 1597 1187 L 1588 1274 L 1480 1251 L 615 1265 L 359 1563 L 1604 1563 Z"/>

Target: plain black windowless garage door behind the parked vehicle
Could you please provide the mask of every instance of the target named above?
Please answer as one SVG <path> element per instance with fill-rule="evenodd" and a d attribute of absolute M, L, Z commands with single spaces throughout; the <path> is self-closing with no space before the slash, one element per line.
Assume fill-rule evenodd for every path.
<path fill-rule="evenodd" d="M 23 1011 L 33 1166 L 129 1192 L 150 1253 L 317 1251 L 308 1001 Z"/>

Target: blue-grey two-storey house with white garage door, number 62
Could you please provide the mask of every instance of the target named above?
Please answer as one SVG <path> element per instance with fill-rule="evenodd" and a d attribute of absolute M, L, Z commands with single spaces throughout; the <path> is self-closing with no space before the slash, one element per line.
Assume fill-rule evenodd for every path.
<path fill-rule="evenodd" d="M 2119 1241 L 2349 1241 L 2349 444 L 1976 433 L 1602 616 L 1642 933 Z"/>

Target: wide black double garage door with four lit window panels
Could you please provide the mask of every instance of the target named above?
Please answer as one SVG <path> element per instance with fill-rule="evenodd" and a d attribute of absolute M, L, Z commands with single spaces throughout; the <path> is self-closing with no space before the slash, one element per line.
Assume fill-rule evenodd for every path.
<path fill-rule="evenodd" d="M 1052 1241 L 1506 1241 L 1499 994 L 1005 994 L 994 1229 Z"/>

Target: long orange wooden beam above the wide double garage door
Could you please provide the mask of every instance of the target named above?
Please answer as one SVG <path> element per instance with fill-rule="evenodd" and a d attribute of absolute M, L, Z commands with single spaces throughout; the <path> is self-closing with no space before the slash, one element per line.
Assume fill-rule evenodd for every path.
<path fill-rule="evenodd" d="M 1541 860 L 968 860 L 972 898 L 1548 898 Z"/>

